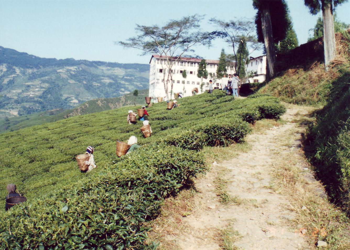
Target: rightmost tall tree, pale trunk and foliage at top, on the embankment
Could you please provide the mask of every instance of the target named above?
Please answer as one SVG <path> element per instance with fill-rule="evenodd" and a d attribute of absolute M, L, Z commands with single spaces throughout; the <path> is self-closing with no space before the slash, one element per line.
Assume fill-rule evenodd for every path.
<path fill-rule="evenodd" d="M 328 65 L 335 57 L 335 35 L 334 35 L 334 8 L 348 0 L 304 0 L 304 4 L 309 8 L 312 15 L 316 15 L 322 9 L 323 20 L 323 51 L 324 66 L 328 70 Z"/>

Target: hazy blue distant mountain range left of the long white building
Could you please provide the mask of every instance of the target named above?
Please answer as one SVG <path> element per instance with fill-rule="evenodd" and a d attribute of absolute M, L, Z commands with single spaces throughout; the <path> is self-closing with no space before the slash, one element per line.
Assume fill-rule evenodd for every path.
<path fill-rule="evenodd" d="M 41 58 L 0 46 L 0 118 L 148 89 L 148 64 Z"/>

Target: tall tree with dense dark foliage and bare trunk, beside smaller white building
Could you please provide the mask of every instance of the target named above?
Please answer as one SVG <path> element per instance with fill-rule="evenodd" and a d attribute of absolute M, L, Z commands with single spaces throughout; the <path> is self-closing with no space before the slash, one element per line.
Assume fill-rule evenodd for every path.
<path fill-rule="evenodd" d="M 285 39 L 290 25 L 288 8 L 285 0 L 253 0 L 257 10 L 255 25 L 258 41 L 264 42 L 267 57 L 267 75 L 270 79 L 275 75 L 276 51 L 274 44 Z"/>

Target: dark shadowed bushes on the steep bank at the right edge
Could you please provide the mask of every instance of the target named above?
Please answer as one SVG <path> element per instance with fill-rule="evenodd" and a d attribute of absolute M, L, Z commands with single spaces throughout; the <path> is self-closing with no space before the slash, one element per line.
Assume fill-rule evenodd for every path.
<path fill-rule="evenodd" d="M 350 214 L 350 70 L 343 69 L 341 74 L 329 102 L 316 113 L 305 143 L 329 197 Z"/>

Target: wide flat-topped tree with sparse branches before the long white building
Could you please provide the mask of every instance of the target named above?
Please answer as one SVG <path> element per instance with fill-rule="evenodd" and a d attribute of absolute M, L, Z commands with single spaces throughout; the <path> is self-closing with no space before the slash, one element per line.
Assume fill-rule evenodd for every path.
<path fill-rule="evenodd" d="M 136 25 L 137 36 L 127 39 L 127 42 L 116 42 L 125 48 L 137 48 L 142 55 L 155 54 L 160 56 L 163 69 L 163 84 L 166 96 L 173 93 L 173 71 L 181 56 L 193 53 L 194 46 L 210 46 L 216 33 L 202 32 L 200 23 L 203 16 L 193 15 L 180 20 L 170 20 L 164 26 Z M 170 85 L 170 86 L 169 86 Z"/>

